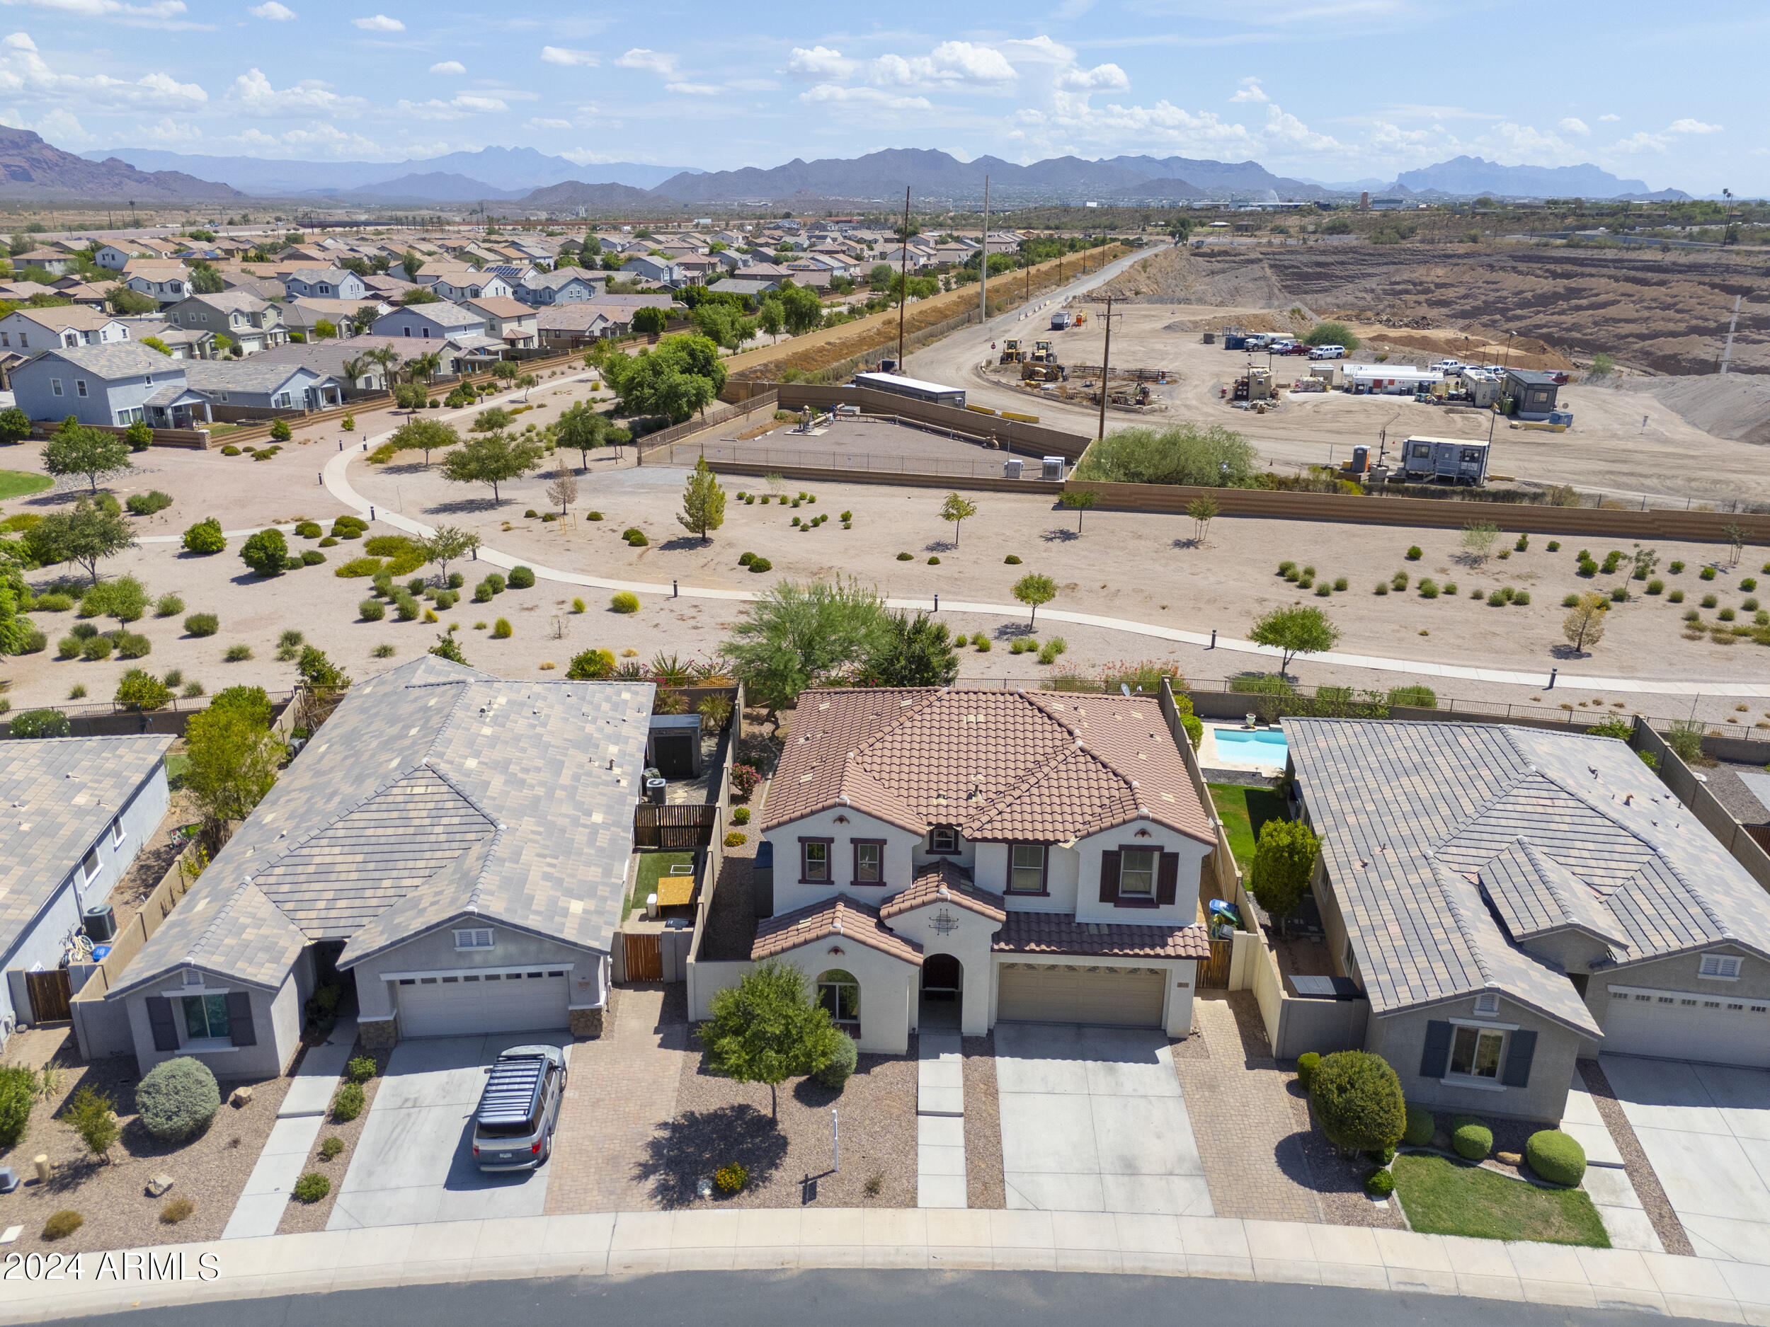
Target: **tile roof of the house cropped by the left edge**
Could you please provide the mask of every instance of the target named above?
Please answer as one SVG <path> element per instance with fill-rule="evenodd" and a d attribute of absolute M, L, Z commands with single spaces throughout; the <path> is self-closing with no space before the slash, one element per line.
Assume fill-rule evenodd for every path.
<path fill-rule="evenodd" d="M 150 352 L 152 354 L 152 352 Z M 0 954 L 159 768 L 172 738 L 16 738 L 0 761 Z"/>

